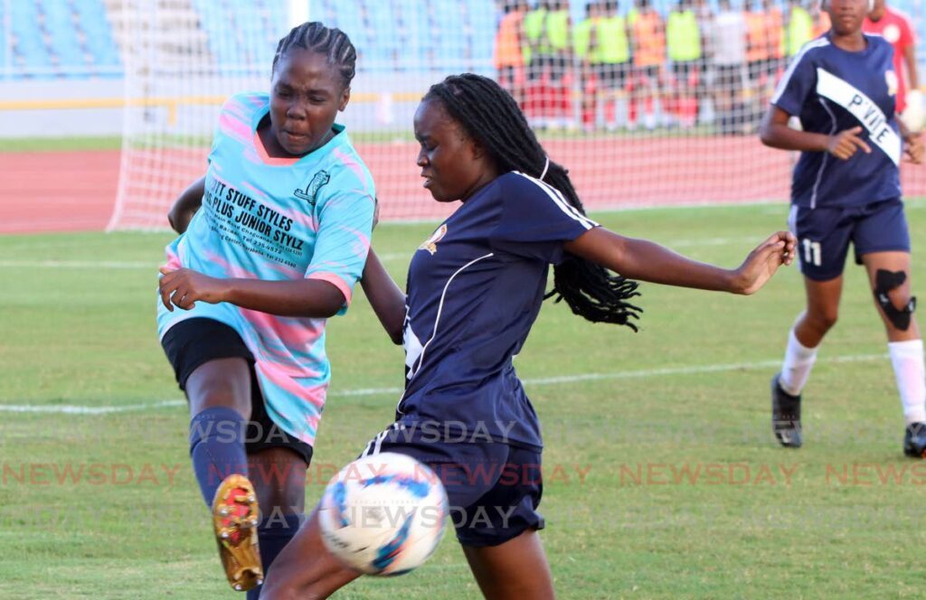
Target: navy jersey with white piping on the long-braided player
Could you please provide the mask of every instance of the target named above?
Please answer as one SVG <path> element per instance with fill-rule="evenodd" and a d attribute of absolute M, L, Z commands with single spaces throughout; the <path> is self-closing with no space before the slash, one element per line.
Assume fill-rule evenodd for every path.
<path fill-rule="evenodd" d="M 408 268 L 407 381 L 397 418 L 440 423 L 467 441 L 539 448 L 540 425 L 512 357 L 540 311 L 549 265 L 595 226 L 556 189 L 518 172 L 446 219 Z"/>

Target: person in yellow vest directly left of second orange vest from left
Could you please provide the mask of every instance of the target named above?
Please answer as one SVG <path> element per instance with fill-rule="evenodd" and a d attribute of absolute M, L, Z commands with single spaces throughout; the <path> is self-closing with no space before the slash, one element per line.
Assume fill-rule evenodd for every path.
<path fill-rule="evenodd" d="M 605 126 L 614 131 L 618 128 L 619 94 L 627 88 L 632 73 L 631 34 L 628 19 L 619 14 L 618 0 L 599 0 L 598 5 L 592 68 L 605 108 Z"/>

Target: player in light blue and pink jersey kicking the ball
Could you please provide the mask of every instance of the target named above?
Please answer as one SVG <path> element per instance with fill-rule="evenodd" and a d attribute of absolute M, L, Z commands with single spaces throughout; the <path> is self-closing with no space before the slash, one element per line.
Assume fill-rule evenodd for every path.
<path fill-rule="evenodd" d="M 373 182 L 334 123 L 356 59 L 344 32 L 294 28 L 270 93 L 222 106 L 206 176 L 169 217 L 181 236 L 161 269 L 158 333 L 190 401 L 223 567 L 249 597 L 304 513 L 325 319 L 350 302 L 369 248 Z"/>

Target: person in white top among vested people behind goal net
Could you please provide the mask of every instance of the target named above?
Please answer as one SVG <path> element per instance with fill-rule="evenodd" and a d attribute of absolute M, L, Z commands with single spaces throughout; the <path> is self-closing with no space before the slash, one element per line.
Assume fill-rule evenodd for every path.
<path fill-rule="evenodd" d="M 720 132 L 742 133 L 744 121 L 743 69 L 746 59 L 745 18 L 730 0 L 720 0 L 711 31 L 711 63 L 714 67 L 714 107 Z"/>

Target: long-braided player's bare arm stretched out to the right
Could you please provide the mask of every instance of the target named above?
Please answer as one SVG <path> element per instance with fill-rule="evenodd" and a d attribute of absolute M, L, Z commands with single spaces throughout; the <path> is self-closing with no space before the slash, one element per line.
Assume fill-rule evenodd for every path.
<path fill-rule="evenodd" d="M 654 242 L 624 237 L 601 227 L 582 233 L 564 247 L 570 254 L 582 256 L 628 279 L 753 294 L 779 267 L 791 264 L 795 236 L 790 231 L 773 233 L 749 253 L 737 269 L 720 269 L 697 262 Z"/>

